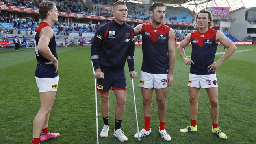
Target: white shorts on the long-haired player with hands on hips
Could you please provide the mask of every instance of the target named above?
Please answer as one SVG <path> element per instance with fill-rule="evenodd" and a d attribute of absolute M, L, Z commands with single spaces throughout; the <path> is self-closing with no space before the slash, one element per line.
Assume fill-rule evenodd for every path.
<path fill-rule="evenodd" d="M 197 75 L 189 73 L 187 85 L 196 88 L 211 88 L 218 87 L 218 81 L 216 74 Z"/>

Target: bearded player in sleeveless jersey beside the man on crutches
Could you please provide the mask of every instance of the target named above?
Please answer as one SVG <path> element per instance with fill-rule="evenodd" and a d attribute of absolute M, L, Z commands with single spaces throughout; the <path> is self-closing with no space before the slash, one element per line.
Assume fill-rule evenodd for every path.
<path fill-rule="evenodd" d="M 150 115 L 152 113 L 153 90 L 156 91 L 158 104 L 159 133 L 161 138 L 170 141 L 165 130 L 165 114 L 168 86 L 173 83 L 175 63 L 174 31 L 164 25 L 165 5 L 154 3 L 150 9 L 151 23 L 139 24 L 134 28 L 135 35 L 142 35 L 143 61 L 141 66 L 140 87 L 143 97 L 144 128 L 140 137 L 151 134 Z M 135 138 L 138 137 L 136 133 Z"/>

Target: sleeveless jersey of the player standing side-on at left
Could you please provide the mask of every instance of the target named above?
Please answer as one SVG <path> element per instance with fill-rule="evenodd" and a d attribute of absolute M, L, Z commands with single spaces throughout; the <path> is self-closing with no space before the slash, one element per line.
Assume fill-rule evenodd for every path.
<path fill-rule="evenodd" d="M 45 59 L 45 57 L 43 57 L 37 49 L 38 41 L 40 38 L 40 31 L 46 26 L 49 26 L 49 24 L 46 22 L 41 22 L 41 24 L 39 24 L 35 29 L 34 43 L 35 43 L 35 55 L 37 59 L 37 68 L 35 70 L 35 76 L 38 78 L 55 78 L 56 76 L 58 76 L 58 73 L 57 74 L 54 73 L 55 67 L 53 65 L 46 65 L 45 62 L 50 62 L 50 60 Z M 48 47 L 50 48 L 52 55 L 54 55 L 54 57 L 58 59 L 54 34 L 48 44 Z"/>

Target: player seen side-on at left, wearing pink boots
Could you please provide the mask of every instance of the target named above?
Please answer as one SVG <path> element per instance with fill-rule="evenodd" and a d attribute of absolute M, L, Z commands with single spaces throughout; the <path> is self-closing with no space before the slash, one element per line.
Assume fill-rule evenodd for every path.
<path fill-rule="evenodd" d="M 40 92 L 41 106 L 33 120 L 32 144 L 40 144 L 59 133 L 48 131 L 50 111 L 58 88 L 58 57 L 52 24 L 58 22 L 58 11 L 54 2 L 43 1 L 39 4 L 39 13 L 43 22 L 35 30 L 35 55 L 37 68 L 35 79 Z M 40 135 L 41 134 L 41 135 Z"/>

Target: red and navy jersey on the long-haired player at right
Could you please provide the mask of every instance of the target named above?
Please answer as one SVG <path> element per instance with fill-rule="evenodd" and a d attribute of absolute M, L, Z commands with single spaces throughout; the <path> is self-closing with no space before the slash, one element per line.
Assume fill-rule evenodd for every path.
<path fill-rule="evenodd" d="M 192 44 L 191 60 L 195 63 L 190 67 L 191 74 L 215 74 L 215 70 L 208 72 L 207 67 L 214 63 L 218 43 L 216 43 L 217 30 L 209 28 L 205 33 L 198 30 L 190 35 Z"/>

